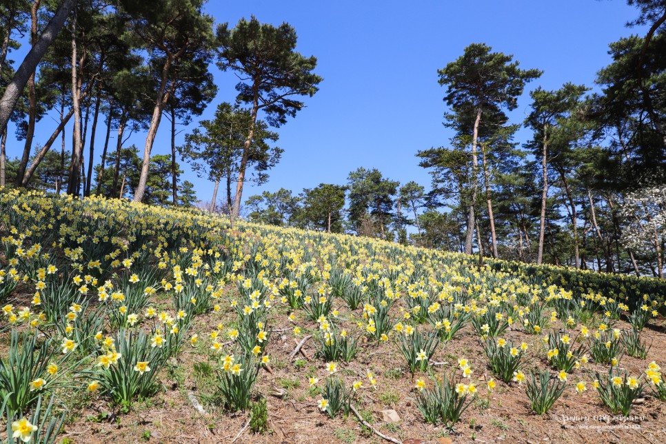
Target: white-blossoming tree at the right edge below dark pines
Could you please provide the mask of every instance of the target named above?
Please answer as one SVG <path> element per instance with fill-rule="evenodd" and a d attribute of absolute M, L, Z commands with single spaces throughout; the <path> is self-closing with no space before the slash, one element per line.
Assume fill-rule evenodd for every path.
<path fill-rule="evenodd" d="M 657 274 L 663 278 L 661 245 L 666 236 L 666 185 L 641 188 L 625 196 L 620 214 L 627 225 L 622 242 L 635 252 L 654 251 Z"/>

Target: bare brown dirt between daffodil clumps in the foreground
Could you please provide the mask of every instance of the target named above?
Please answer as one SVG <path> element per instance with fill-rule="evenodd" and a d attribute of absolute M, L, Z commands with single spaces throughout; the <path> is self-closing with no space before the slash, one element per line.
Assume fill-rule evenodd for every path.
<path fill-rule="evenodd" d="M 341 312 L 343 311 L 341 309 Z M 210 313 L 199 316 L 192 329 L 193 333 L 199 334 L 199 347 L 193 349 L 189 344 L 184 345 L 177 358 L 176 370 L 162 371 L 163 390 L 159 394 L 148 403 L 135 403 L 129 413 L 121 414 L 115 410 L 113 413 L 117 416 L 112 417 L 111 421 L 107 418 L 101 421 L 92 420 L 100 411 L 112 409 L 108 401 L 99 396 L 84 400 L 79 405 L 85 407 L 72 410 L 61 438 L 68 438 L 70 443 L 230 443 L 234 438 L 236 443 L 385 442 L 367 429 L 364 430 L 353 414 L 347 418 L 339 416 L 331 420 L 319 411 L 316 406 L 319 396 L 310 396 L 307 384 L 307 375 L 316 373 L 320 385 L 326 376 L 323 361 L 314 358 L 314 342 L 310 340 L 303 347 L 307 361 L 301 362 L 303 367 L 297 369 L 288 359 L 296 345 L 292 334 L 294 324 L 287 320 L 285 308 L 277 309 L 273 316 L 276 331 L 267 349 L 272 359 L 272 373 L 261 370 L 256 385 L 257 392 L 268 399 L 270 433 L 252 434 L 249 429 L 243 428 L 249 418 L 248 412 L 230 414 L 206 401 L 205 396 L 212 394 L 214 390 L 214 379 L 199 379 L 193 366 L 194 363 L 202 361 L 214 364 L 214 356 L 208 352 L 208 332 L 220 321 L 228 324 L 233 319 L 230 313 Z M 297 314 L 295 324 L 301 326 L 303 334 L 308 334 L 316 325 L 312 321 L 306 321 L 302 312 Z M 354 322 L 345 321 L 345 325 L 352 327 Z M 558 325 L 556 323 L 554 327 Z M 626 329 L 629 325 L 620 321 L 614 327 Z M 650 361 L 657 361 L 666 367 L 664 332 L 663 319 L 646 328 L 641 336 L 652 341 L 652 349 L 649 350 L 647 359 L 624 356 L 620 369 L 625 368 L 631 374 L 638 375 Z M 541 336 L 512 329 L 505 337 L 518 343 L 525 341 L 529 344 L 528 359 L 523 365 L 523 371 L 547 367 Z M 438 347 L 434 361 L 440 365 L 434 367 L 435 374 L 450 374 L 458 357 L 467 357 L 472 362 L 472 379 L 479 387 L 477 401 L 487 398 L 485 381 L 492 377 L 492 374 L 471 325 L 459 331 L 452 341 Z M 304 360 L 304 356 L 299 356 L 299 359 Z M 453 430 L 423 422 L 414 405 L 414 382 L 411 375 L 405 372 L 403 357 L 394 343 L 376 345 L 364 342 L 356 359 L 349 364 L 340 363 L 340 367 L 342 371 L 339 374 L 347 381 L 348 386 L 355 380 L 362 380 L 367 385 L 365 372 L 372 370 L 378 381 L 377 389 L 365 389 L 361 392 L 358 409 L 372 416 L 373 427 L 377 430 L 405 444 L 450 442 L 446 438 L 453 443 L 513 441 L 656 444 L 663 442 L 666 432 L 666 405 L 650 396 L 649 389 L 644 402 L 634 405 L 632 409 L 632 416 L 635 418 L 630 421 L 618 421 L 614 418 L 592 387 L 594 371 L 604 373 L 608 367 L 594 363 L 589 363 L 583 370 L 572 372 L 563 396 L 544 416 L 530 412 L 524 385 L 521 387 L 516 383 L 505 384 L 498 381 L 496 389 L 490 394 L 490 405 L 483 408 L 480 402 L 473 402 Z M 574 384 L 581 380 L 587 381 L 588 390 L 579 395 L 574 390 Z M 207 414 L 201 415 L 194 410 L 188 401 L 188 391 L 202 398 Z M 286 394 L 274 396 L 280 391 L 286 391 Z M 401 417 L 397 427 L 382 422 L 379 411 L 387 408 L 396 410 Z M 576 418 L 567 421 L 567 418 L 572 417 Z M 146 432 L 150 432 L 150 437 L 147 434 L 144 436 Z"/>

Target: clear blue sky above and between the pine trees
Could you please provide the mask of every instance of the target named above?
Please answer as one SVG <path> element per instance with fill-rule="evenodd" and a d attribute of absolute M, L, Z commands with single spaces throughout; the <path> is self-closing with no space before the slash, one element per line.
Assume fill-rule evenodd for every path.
<path fill-rule="evenodd" d="M 529 90 L 555 89 L 567 81 L 592 85 L 596 72 L 610 62 L 608 44 L 632 32 L 644 33 L 625 28 L 636 10 L 624 0 L 210 0 L 206 11 L 230 26 L 252 14 L 275 25 L 287 21 L 296 28 L 297 50 L 317 57 L 316 72 L 324 78 L 319 92 L 305 99 L 307 108 L 277 130 L 285 152 L 269 183 L 246 186 L 243 200 L 263 190 L 287 188 L 298 194 L 321 182 L 345 183 L 347 174 L 360 166 L 428 189 L 430 176 L 418 167 L 414 154 L 447 145 L 452 135 L 441 124 L 445 88 L 437 83 L 437 70 L 459 57 L 465 46 L 486 43 L 513 54 L 523 68 L 544 71 L 527 85 L 510 114 L 519 123 L 529 107 Z M 23 51 L 11 58 L 19 56 Z M 219 93 L 185 131 L 210 118 L 221 101 L 235 99 L 234 74 L 214 65 L 211 70 Z M 43 144 L 55 125 L 49 116 L 37 123 L 34 144 Z M 99 161 L 104 131 L 98 128 L 97 133 Z M 13 134 L 12 128 L 8 157 L 18 157 L 23 148 Z M 68 143 L 70 134 L 68 128 Z M 521 130 L 518 141 L 529 137 L 528 130 Z M 126 145 L 143 150 L 144 141 L 145 133 L 137 133 Z M 163 119 L 153 154 L 167 153 L 170 125 Z M 194 183 L 199 199 L 210 200 L 212 184 L 198 179 L 188 165 L 182 167 L 183 179 Z"/>

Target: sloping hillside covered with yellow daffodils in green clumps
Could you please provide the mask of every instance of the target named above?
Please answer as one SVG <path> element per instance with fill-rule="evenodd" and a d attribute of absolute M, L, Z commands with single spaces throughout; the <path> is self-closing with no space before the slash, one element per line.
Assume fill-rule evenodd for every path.
<path fill-rule="evenodd" d="M 9 443 L 629 443 L 666 285 L 0 192 Z"/>

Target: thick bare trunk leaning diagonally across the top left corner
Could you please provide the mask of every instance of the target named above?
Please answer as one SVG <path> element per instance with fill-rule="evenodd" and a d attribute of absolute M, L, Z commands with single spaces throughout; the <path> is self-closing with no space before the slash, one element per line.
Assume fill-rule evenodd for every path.
<path fill-rule="evenodd" d="M 30 52 L 28 52 L 26 58 L 21 62 L 17 72 L 14 73 L 12 81 L 7 85 L 5 93 L 3 94 L 2 99 L 0 99 L 0 128 L 4 128 L 5 125 L 7 125 L 7 122 L 14 111 L 14 107 L 16 106 L 17 101 L 19 101 L 19 97 L 21 97 L 21 92 L 23 92 L 23 88 L 25 88 L 26 83 L 28 83 L 30 73 L 37 68 L 39 61 L 46 53 L 46 50 L 48 50 L 48 47 L 55 39 L 58 32 L 60 32 L 63 23 L 65 23 L 65 19 L 67 19 L 67 16 L 74 8 L 75 3 L 76 0 L 63 1 L 60 8 L 48 22 L 44 32 L 41 33 L 41 37 L 39 37 L 37 44 L 30 49 Z"/>

